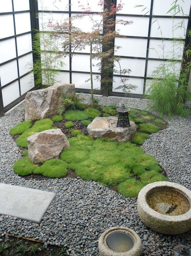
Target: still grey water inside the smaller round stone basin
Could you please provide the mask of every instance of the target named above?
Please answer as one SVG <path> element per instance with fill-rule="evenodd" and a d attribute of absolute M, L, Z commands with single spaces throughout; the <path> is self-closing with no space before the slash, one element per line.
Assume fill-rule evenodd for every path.
<path fill-rule="evenodd" d="M 134 246 L 133 238 L 124 232 L 111 233 L 108 235 L 106 242 L 111 250 L 117 251 L 118 253 L 129 251 Z"/>

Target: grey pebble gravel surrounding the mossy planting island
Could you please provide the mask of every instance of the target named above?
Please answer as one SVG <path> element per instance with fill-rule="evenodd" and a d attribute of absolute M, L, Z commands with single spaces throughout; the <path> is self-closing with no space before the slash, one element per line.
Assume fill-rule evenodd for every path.
<path fill-rule="evenodd" d="M 84 96 L 86 101 L 90 96 Z M 99 104 L 117 104 L 144 108 L 148 100 L 96 96 Z M 34 237 L 44 245 L 67 247 L 67 255 L 99 255 L 100 234 L 112 226 L 134 229 L 142 240 L 142 255 L 173 255 L 172 248 L 179 242 L 191 246 L 191 232 L 168 236 L 147 228 L 137 214 L 136 199 L 125 198 L 93 181 L 82 179 L 26 180 L 13 172 L 13 164 L 21 154 L 9 135 L 9 129 L 22 120 L 24 104 L 0 118 L 0 182 L 12 185 L 54 191 L 56 197 L 45 213 L 40 225 L 16 217 L 0 215 L 0 241 L 6 233 Z M 188 188 L 189 130 L 191 120 L 174 117 L 169 128 L 152 134 L 143 144 L 147 153 L 155 156 L 165 168 L 171 181 Z M 2 238 L 1 238 L 2 236 Z"/>

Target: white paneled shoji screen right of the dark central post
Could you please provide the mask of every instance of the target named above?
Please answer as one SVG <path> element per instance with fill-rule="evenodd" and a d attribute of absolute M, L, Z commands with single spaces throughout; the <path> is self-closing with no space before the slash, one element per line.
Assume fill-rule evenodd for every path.
<path fill-rule="evenodd" d="M 117 0 L 117 4 L 120 0 Z M 188 25 L 191 0 L 179 0 L 183 9 L 183 14 L 176 14 L 172 18 L 172 13 L 168 13 L 173 0 L 133 0 L 123 1 L 123 9 L 117 13 L 116 19 L 133 21 L 133 24 L 122 26 L 116 25 L 116 30 L 125 38 L 116 38 L 115 46 L 121 46 L 115 54 L 121 56 L 121 67 L 131 69 L 129 83 L 135 84 L 138 88 L 132 91 L 130 96 L 142 97 L 146 90 L 147 80 L 151 73 L 161 63 L 169 58 L 180 60 L 182 58 L 185 32 Z M 146 7 L 135 7 L 143 5 Z M 144 9 L 144 10 L 143 10 Z M 146 14 L 147 13 L 147 14 Z M 144 15 L 146 14 L 146 15 Z M 183 22 L 182 28 L 177 28 L 173 32 L 173 26 Z M 160 26 L 160 29 L 159 29 Z M 180 44 L 173 44 L 172 37 L 182 38 Z M 163 38 L 163 40 L 161 40 Z M 181 43 L 182 42 L 182 43 Z M 163 46 L 164 52 L 161 50 Z M 175 47 L 175 56 L 172 50 Z M 176 48 L 177 47 L 177 48 Z M 179 63 L 176 64 L 180 70 Z M 120 94 L 120 90 L 115 88 L 121 85 L 120 77 L 114 74 L 113 95 Z"/>

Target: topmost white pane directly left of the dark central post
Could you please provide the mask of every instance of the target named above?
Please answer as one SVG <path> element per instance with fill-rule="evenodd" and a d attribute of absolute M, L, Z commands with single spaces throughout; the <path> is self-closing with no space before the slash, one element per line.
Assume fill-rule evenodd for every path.
<path fill-rule="evenodd" d="M 78 0 L 71 0 L 71 10 L 72 12 L 84 12 L 84 9 L 87 10 L 88 9 L 88 1 L 87 0 L 80 0 L 80 3 L 78 3 Z M 90 12 L 101 12 L 102 11 L 102 7 L 100 5 L 98 5 L 98 0 L 91 0 L 89 1 L 89 7 L 91 9 Z"/>

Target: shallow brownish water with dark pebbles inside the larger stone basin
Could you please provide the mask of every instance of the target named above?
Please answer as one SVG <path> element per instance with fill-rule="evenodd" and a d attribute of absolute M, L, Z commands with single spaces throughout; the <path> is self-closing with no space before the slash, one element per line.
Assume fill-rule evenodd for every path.
<path fill-rule="evenodd" d="M 182 193 L 167 187 L 152 189 L 147 203 L 153 210 L 166 215 L 181 215 L 190 209 L 190 203 Z"/>

